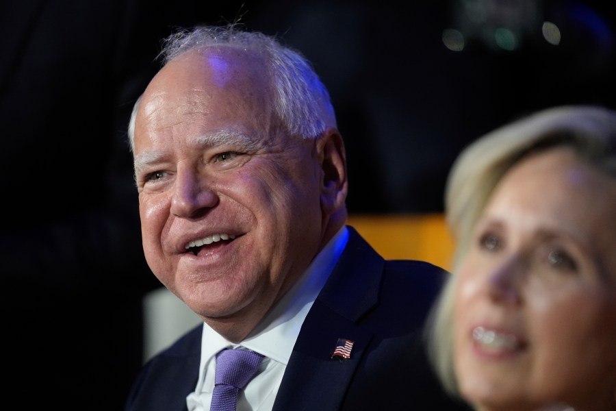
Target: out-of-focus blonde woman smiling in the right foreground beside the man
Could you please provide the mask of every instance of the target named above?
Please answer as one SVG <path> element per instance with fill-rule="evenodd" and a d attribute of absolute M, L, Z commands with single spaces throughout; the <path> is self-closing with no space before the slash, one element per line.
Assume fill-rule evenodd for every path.
<path fill-rule="evenodd" d="M 616 113 L 550 108 L 467 147 L 431 360 L 478 410 L 616 410 Z"/>

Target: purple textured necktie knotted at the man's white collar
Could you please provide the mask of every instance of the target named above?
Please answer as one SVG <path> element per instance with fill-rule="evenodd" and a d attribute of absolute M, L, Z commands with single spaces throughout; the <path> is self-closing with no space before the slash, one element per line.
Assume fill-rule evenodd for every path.
<path fill-rule="evenodd" d="M 244 349 L 223 349 L 216 356 L 214 392 L 209 411 L 235 411 L 238 392 L 257 373 L 263 356 Z"/>

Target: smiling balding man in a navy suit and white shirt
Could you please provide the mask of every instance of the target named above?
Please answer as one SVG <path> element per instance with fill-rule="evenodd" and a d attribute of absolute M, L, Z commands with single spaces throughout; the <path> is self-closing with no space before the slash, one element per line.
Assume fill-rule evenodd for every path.
<path fill-rule="evenodd" d="M 421 340 L 446 273 L 345 225 L 344 142 L 309 62 L 237 25 L 165 46 L 129 126 L 143 245 L 203 325 L 146 364 L 127 410 L 209 410 L 227 348 L 264 356 L 238 410 L 457 409 Z"/>

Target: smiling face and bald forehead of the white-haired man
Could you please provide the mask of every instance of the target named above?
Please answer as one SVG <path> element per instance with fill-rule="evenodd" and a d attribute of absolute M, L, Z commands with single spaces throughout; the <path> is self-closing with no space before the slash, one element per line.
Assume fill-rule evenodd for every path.
<path fill-rule="evenodd" d="M 285 134 L 261 73 L 246 51 L 192 51 L 136 118 L 146 260 L 208 322 L 259 321 L 322 239 L 319 140 Z"/>

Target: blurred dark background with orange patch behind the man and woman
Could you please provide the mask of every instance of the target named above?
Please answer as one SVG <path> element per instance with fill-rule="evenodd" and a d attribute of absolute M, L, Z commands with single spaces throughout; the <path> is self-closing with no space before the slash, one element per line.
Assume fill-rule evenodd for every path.
<path fill-rule="evenodd" d="M 178 26 L 244 23 L 304 53 L 346 142 L 350 223 L 385 258 L 448 268 L 465 145 L 551 105 L 616 108 L 612 3 L 0 0 L 8 398 L 120 410 L 142 361 L 200 321 L 145 264 L 125 136 Z"/>

